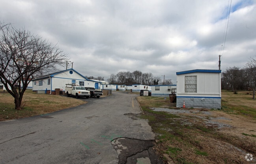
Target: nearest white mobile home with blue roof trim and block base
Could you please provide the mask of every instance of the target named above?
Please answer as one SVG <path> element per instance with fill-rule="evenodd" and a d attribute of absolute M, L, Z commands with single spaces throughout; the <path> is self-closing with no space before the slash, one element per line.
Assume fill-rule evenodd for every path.
<path fill-rule="evenodd" d="M 221 108 L 221 70 L 177 72 L 177 104 L 186 108 Z"/>

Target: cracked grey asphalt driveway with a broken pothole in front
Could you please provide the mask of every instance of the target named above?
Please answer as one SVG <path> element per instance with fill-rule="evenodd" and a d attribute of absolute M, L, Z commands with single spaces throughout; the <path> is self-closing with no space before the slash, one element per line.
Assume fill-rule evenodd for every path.
<path fill-rule="evenodd" d="M 0 163 L 157 163 L 155 135 L 136 117 L 137 96 L 116 91 L 81 98 L 88 103 L 75 108 L 0 122 Z"/>

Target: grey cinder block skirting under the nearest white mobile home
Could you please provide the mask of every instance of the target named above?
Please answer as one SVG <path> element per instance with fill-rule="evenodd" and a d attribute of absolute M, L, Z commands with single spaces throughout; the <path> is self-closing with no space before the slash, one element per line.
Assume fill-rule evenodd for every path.
<path fill-rule="evenodd" d="M 210 108 L 221 109 L 221 97 L 177 97 L 177 108 Z"/>

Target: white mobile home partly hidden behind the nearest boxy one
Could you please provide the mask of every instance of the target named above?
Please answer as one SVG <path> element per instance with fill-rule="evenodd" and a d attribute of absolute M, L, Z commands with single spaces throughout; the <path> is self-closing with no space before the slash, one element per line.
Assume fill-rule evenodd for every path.
<path fill-rule="evenodd" d="M 153 97 L 169 97 L 173 92 L 176 93 L 176 85 L 151 86 L 151 96 Z"/>

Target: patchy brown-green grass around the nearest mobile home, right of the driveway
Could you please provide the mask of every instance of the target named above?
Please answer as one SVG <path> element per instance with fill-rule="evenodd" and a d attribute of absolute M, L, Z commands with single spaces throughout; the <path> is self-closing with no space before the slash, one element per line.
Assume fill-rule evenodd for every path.
<path fill-rule="evenodd" d="M 148 119 L 157 135 L 155 149 L 164 162 L 256 163 L 256 106 L 250 93 L 223 91 L 221 110 L 179 109 L 155 97 L 138 97 L 138 101 L 145 113 L 142 118 Z M 163 106 L 170 112 L 150 109 Z M 171 112 L 178 110 L 179 114 Z M 223 124 L 227 126 L 218 126 Z M 250 162 L 245 160 L 247 153 L 254 157 Z"/>

